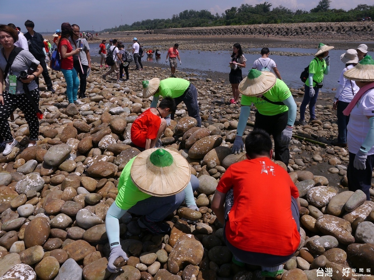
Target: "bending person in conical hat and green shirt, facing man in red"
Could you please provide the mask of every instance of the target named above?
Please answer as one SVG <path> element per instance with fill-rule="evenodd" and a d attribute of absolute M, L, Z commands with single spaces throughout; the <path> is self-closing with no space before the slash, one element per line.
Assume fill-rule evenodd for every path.
<path fill-rule="evenodd" d="M 261 128 L 273 135 L 275 160 L 288 166 L 288 144 L 296 119 L 296 103 L 288 86 L 272 72 L 251 69 L 240 82 L 239 91 L 242 101 L 232 152 L 236 154 L 244 149 L 242 135 L 254 104 L 258 110 L 254 128 Z"/>

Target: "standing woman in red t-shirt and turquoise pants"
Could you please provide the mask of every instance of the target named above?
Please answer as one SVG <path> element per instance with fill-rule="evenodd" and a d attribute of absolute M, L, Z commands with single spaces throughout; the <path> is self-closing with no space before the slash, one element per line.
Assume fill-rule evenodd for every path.
<path fill-rule="evenodd" d="M 58 51 L 61 54 L 61 72 L 64 74 L 69 103 L 80 105 L 85 103 L 77 99 L 79 79 L 73 63 L 73 55 L 78 55 L 80 48 L 73 50 L 69 37 L 73 40 L 73 28 L 68 22 L 64 22 L 61 24 L 61 39 L 58 42 Z"/>

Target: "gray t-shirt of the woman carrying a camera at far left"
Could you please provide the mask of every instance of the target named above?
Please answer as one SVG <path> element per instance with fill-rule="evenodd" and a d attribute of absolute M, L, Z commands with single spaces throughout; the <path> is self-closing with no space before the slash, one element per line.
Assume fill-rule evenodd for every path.
<path fill-rule="evenodd" d="M 5 90 L 9 91 L 9 75 L 10 75 L 10 69 L 12 69 L 13 75 L 16 75 L 18 77 L 19 72 L 21 71 L 27 71 L 28 68 L 31 66 L 31 63 L 36 63 L 37 65 L 40 64 L 39 60 L 37 60 L 29 51 L 27 50 L 21 50 L 21 52 L 15 57 L 12 66 L 9 67 L 8 75 L 5 79 Z M 6 60 L 3 55 L 3 50 L 0 50 L 0 68 L 5 71 L 6 68 Z M 4 73 L 5 75 L 5 73 Z M 36 90 L 38 88 L 38 85 L 35 83 L 34 80 L 31 81 L 31 83 L 27 84 L 29 90 Z M 23 83 L 19 80 L 17 80 L 17 88 L 16 88 L 16 94 L 23 94 L 25 93 L 23 89 Z"/>

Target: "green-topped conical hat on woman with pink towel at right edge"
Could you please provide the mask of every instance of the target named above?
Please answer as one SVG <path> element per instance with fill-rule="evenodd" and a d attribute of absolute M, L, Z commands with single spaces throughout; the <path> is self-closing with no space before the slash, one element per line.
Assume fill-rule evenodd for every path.
<path fill-rule="evenodd" d="M 374 60 L 370 55 L 365 56 L 354 68 L 344 72 L 344 77 L 352 81 L 374 81 Z"/>

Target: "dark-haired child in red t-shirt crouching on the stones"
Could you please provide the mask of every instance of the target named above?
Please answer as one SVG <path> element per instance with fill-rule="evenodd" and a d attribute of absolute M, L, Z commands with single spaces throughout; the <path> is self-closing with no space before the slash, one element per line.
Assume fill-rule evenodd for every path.
<path fill-rule="evenodd" d="M 175 112 L 174 99 L 164 97 L 158 108 L 145 110 L 131 126 L 131 141 L 141 150 L 154 148 L 166 128 L 164 119 Z"/>

